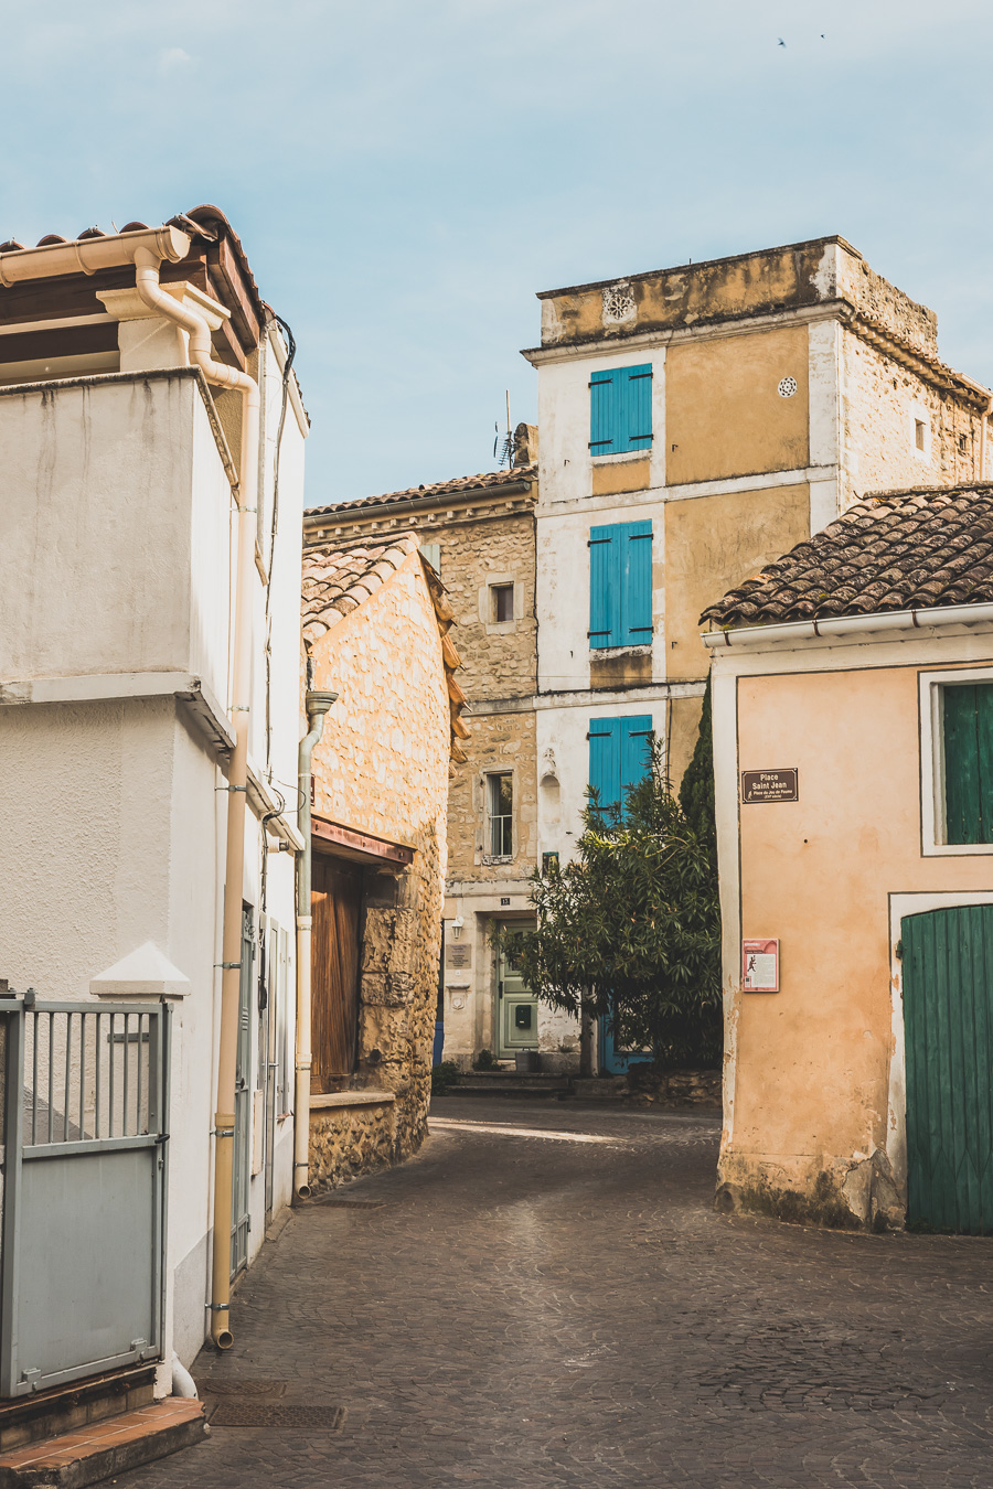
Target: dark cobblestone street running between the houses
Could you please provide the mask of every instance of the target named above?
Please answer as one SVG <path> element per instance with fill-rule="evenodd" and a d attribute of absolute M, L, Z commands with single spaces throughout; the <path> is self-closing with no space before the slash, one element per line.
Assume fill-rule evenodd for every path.
<path fill-rule="evenodd" d="M 214 1423 L 119 1489 L 993 1482 L 993 1240 L 716 1215 L 710 1114 L 435 1114 L 293 1217 L 197 1362 L 304 1425 Z"/>

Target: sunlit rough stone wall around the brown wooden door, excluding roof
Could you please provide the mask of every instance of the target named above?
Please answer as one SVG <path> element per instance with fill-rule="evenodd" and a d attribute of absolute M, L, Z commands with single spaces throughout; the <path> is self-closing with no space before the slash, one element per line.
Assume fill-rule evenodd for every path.
<path fill-rule="evenodd" d="M 411 846 L 400 874 L 366 870 L 353 1090 L 395 1103 L 314 1112 L 316 1185 L 408 1157 L 426 1132 L 441 954 L 448 691 L 417 554 L 314 643 L 314 686 L 338 692 L 314 750 L 314 810 Z"/>

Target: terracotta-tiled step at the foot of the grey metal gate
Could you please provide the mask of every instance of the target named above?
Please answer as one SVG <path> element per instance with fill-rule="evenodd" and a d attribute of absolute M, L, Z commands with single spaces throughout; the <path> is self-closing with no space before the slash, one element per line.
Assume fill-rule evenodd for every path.
<path fill-rule="evenodd" d="M 83 1489 L 191 1447 L 208 1431 L 202 1401 L 168 1397 L 0 1453 L 0 1489 Z"/>

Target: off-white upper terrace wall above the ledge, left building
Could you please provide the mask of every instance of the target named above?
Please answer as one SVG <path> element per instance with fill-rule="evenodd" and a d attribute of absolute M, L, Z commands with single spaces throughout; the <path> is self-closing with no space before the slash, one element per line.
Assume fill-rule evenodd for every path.
<path fill-rule="evenodd" d="M 191 372 L 0 390 L 0 676 L 226 697 L 229 488 Z"/>

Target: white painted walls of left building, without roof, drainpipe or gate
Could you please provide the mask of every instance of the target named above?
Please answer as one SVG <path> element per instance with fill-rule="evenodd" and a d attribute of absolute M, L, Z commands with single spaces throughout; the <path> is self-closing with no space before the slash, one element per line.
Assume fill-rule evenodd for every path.
<path fill-rule="evenodd" d="M 278 418 L 275 359 L 269 372 L 277 386 L 264 380 L 264 402 Z M 299 739 L 302 438 L 290 409 L 271 590 L 256 575 L 252 596 L 255 764 L 284 797 L 289 817 Z M 232 500 L 197 380 L 180 371 L 0 390 L 0 682 L 77 677 L 85 694 L 88 675 L 183 672 L 202 677 L 226 707 Z M 271 459 L 262 474 L 271 514 Z M 0 975 L 40 998 L 85 999 L 95 974 L 153 941 L 189 978 L 174 1008 L 165 1361 L 176 1348 L 191 1362 L 208 1324 L 223 785 L 213 747 L 171 694 L 0 706 Z M 295 862 L 266 849 L 250 812 L 241 892 L 258 923 L 266 853 L 265 913 L 289 932 L 292 1038 Z M 252 1004 L 255 1087 L 255 989 Z M 277 1126 L 274 1188 L 278 1209 L 292 1191 L 292 1115 Z M 265 1237 L 265 1169 L 252 1179 L 250 1214 L 253 1257 Z"/>

